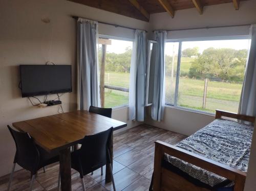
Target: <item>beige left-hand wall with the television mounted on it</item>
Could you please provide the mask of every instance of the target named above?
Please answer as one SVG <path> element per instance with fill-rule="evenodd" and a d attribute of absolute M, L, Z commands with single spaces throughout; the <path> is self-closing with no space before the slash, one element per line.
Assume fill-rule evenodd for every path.
<path fill-rule="evenodd" d="M 75 110 L 76 21 L 71 15 L 146 30 L 149 24 L 64 0 L 1 0 L 0 15 L 0 176 L 3 176 L 10 172 L 15 152 L 7 125 L 56 114 L 59 108 L 33 107 L 28 99 L 21 98 L 18 65 L 44 64 L 49 60 L 56 64 L 72 64 L 73 92 L 66 93 L 61 101 L 65 111 Z M 50 23 L 42 22 L 44 18 L 49 18 Z M 134 38 L 133 30 L 101 24 L 99 34 Z M 128 127 L 138 125 L 127 120 L 127 108 L 114 110 L 113 118 L 127 122 Z"/>

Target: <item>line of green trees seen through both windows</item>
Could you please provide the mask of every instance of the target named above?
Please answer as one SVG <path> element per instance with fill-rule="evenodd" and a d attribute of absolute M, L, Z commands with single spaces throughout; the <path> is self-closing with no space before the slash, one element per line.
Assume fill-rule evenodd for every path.
<path fill-rule="evenodd" d="M 124 53 L 106 53 L 105 71 L 116 73 L 130 73 L 132 48 L 127 47 Z M 177 55 L 175 56 L 177 65 Z M 188 72 L 182 71 L 181 76 L 195 79 L 215 79 L 220 81 L 238 81 L 244 79 L 247 59 L 247 50 L 215 49 L 209 47 L 201 54 L 199 47 L 188 48 L 182 51 L 183 58 L 190 58 L 191 65 Z M 99 49 L 99 60 L 101 49 Z M 172 56 L 165 56 L 166 73 L 171 73 Z M 176 66 L 175 66 L 176 67 Z"/>

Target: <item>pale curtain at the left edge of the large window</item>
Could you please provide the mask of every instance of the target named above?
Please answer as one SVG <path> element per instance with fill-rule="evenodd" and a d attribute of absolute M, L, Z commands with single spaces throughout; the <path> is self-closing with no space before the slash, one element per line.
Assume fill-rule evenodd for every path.
<path fill-rule="evenodd" d="M 154 94 L 151 109 L 153 120 L 161 121 L 165 106 L 165 72 L 164 72 L 164 46 L 166 41 L 166 31 L 155 31 L 157 39 L 156 57 L 155 57 L 155 79 Z"/>

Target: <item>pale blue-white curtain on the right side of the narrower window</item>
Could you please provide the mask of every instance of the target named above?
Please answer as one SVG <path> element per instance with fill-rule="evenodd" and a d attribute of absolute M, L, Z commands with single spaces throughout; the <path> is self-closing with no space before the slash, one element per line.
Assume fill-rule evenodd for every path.
<path fill-rule="evenodd" d="M 143 122 L 146 91 L 146 33 L 136 30 L 130 69 L 129 116 Z"/>

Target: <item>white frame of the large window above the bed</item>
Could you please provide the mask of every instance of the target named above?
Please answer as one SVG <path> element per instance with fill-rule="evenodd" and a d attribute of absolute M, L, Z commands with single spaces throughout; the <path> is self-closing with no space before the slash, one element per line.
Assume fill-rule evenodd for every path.
<path fill-rule="evenodd" d="M 250 35 L 240 35 L 240 36 L 220 36 L 220 37 L 201 37 L 201 38 L 180 38 L 180 39 L 167 39 L 166 42 L 179 42 L 179 51 L 178 51 L 178 61 L 177 61 L 177 71 L 176 71 L 176 86 L 175 86 L 175 97 L 174 104 L 165 103 L 166 107 L 172 107 L 177 109 L 182 109 L 186 111 L 202 113 L 207 115 L 215 115 L 214 113 L 191 109 L 188 107 L 178 106 L 178 92 L 179 92 L 179 79 L 180 79 L 180 62 L 181 62 L 181 50 L 182 50 L 182 42 L 187 41 L 209 41 L 209 40 L 239 40 L 239 39 L 251 39 Z"/>

